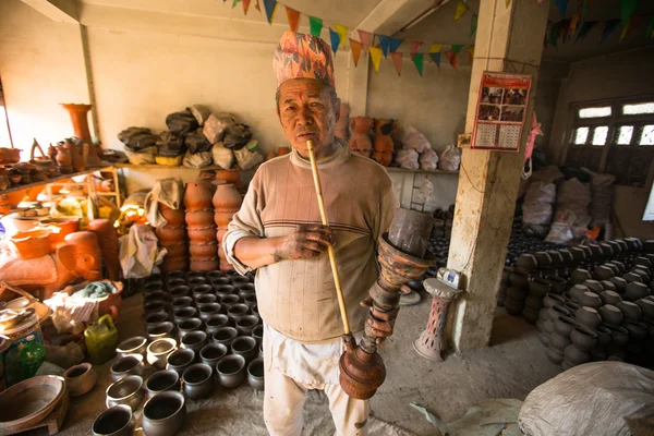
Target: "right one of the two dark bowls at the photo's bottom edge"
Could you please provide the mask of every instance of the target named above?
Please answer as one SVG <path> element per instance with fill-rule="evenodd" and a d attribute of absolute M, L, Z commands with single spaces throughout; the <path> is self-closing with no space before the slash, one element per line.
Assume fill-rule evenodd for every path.
<path fill-rule="evenodd" d="M 143 433 L 147 436 L 173 436 L 186 419 L 186 400 L 181 392 L 159 392 L 143 407 Z"/>

